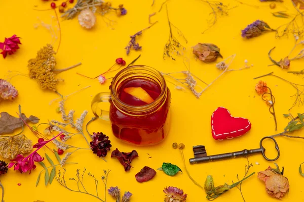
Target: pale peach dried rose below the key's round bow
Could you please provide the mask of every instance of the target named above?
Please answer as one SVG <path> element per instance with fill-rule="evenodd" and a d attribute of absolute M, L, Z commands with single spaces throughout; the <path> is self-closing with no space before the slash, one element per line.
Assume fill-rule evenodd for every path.
<path fill-rule="evenodd" d="M 283 176 L 284 167 L 281 172 L 278 165 L 276 166 L 277 169 L 269 166 L 265 171 L 260 171 L 257 178 L 265 182 L 266 191 L 269 195 L 282 199 L 289 191 L 289 182 L 288 179 Z"/>

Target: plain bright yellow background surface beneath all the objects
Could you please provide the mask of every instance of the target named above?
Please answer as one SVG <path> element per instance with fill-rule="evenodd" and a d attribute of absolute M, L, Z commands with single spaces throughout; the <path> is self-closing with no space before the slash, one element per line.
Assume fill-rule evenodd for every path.
<path fill-rule="evenodd" d="M 237 181 L 236 175 L 244 174 L 245 158 L 220 161 L 214 163 L 206 163 L 199 165 L 189 165 L 188 159 L 193 158 L 192 146 L 204 144 L 209 155 L 221 154 L 230 151 L 242 150 L 244 148 L 257 148 L 259 140 L 268 135 L 276 134 L 274 120 L 268 111 L 268 106 L 261 100 L 261 97 L 254 90 L 254 86 L 258 80 L 253 77 L 267 74 L 272 71 L 276 75 L 282 76 L 295 83 L 303 83 L 302 76 L 288 74 L 286 70 L 282 70 L 277 66 L 268 67 L 271 64 L 268 59 L 268 52 L 273 46 L 277 46 L 273 52 L 276 60 L 287 56 L 294 44 L 294 38 L 290 34 L 289 38 L 284 37 L 276 39 L 275 33 L 266 33 L 260 37 L 250 40 L 241 37 L 241 30 L 253 21 L 260 19 L 269 23 L 272 28 L 277 28 L 283 23 L 289 22 L 290 19 L 273 17 L 271 12 L 286 10 L 289 14 L 296 14 L 290 1 L 277 3 L 277 8 L 271 10 L 269 3 L 260 3 L 258 0 L 245 1 L 247 3 L 259 6 L 259 9 L 241 5 L 237 1 L 223 1 L 225 4 L 238 6 L 229 11 L 228 16 L 219 17 L 217 23 L 205 34 L 201 32 L 205 30 L 207 19 L 209 18 L 210 8 L 206 3 L 199 0 L 189 1 L 168 1 L 168 10 L 171 22 L 177 26 L 188 39 L 188 43 L 178 37 L 176 30 L 175 36 L 178 37 L 186 49 L 186 57 L 189 58 L 191 70 L 205 82 L 209 83 L 216 78 L 221 71 L 215 68 L 215 63 L 205 64 L 196 59 L 192 54 L 191 47 L 198 42 L 214 43 L 220 47 L 220 52 L 224 58 L 236 54 L 235 61 L 232 63 L 232 69 L 242 68 L 244 60 L 248 60 L 248 64 L 254 66 L 243 71 L 227 72 L 222 75 L 211 87 L 209 87 L 202 96 L 197 99 L 189 91 L 179 91 L 174 85 L 168 83 L 172 93 L 172 124 L 168 137 L 156 146 L 137 147 L 121 143 L 111 132 L 110 123 L 98 120 L 90 125 L 91 132 L 103 132 L 107 134 L 111 140 L 112 148 L 119 148 L 121 151 L 131 151 L 136 149 L 139 158 L 132 162 L 134 168 L 130 172 L 125 172 L 122 165 L 116 159 L 110 158 L 108 153 L 107 163 L 93 155 L 89 150 L 77 151 L 73 154 L 68 162 L 78 162 L 78 165 L 66 165 L 66 179 L 74 177 L 77 168 L 91 172 L 97 177 L 103 174 L 103 169 L 110 169 L 108 180 L 109 186 L 119 186 L 122 193 L 130 191 L 133 193 L 131 201 L 163 201 L 163 188 L 166 186 L 177 186 L 188 194 L 187 201 L 206 201 L 206 194 L 197 187 L 187 177 L 184 172 L 177 174 L 175 177 L 165 175 L 161 171 L 157 171 L 156 177 L 142 184 L 135 180 L 135 174 L 144 166 L 157 169 L 161 167 L 163 162 L 170 162 L 178 165 L 182 170 L 183 164 L 178 150 L 172 148 L 173 142 L 182 142 L 185 144 L 184 155 L 187 162 L 187 168 L 201 185 L 204 184 L 207 175 L 212 175 L 215 185 L 221 185 L 224 182 L 232 184 L 232 180 Z M 0 8 L 0 39 L 10 37 L 13 34 L 22 37 L 20 49 L 13 56 L 6 59 L 0 59 L 0 75 L 1 78 L 11 77 L 8 71 L 21 72 L 27 75 L 27 61 L 36 56 L 36 52 L 45 44 L 52 40 L 51 33 L 39 26 L 34 28 L 35 24 L 39 24 L 40 20 L 46 24 L 52 22 L 55 32 L 58 36 L 56 28 L 56 20 L 54 19 L 54 11 L 34 11 L 36 9 L 48 9 L 51 1 L 43 2 L 41 0 L 34 1 L 1 1 Z M 57 1 L 59 5 L 61 2 Z M 103 21 L 105 18 L 97 16 L 97 22 L 93 29 L 83 29 L 77 18 L 62 21 L 61 25 L 61 46 L 55 58 L 57 68 L 65 68 L 73 64 L 82 62 L 83 64 L 75 69 L 63 72 L 58 77 L 63 78 L 64 82 L 58 85 L 58 91 L 67 95 L 71 92 L 79 90 L 90 85 L 86 90 L 78 92 L 68 97 L 65 110 L 75 110 L 75 117 L 79 117 L 84 110 L 88 110 L 89 114 L 85 119 L 87 123 L 93 114 L 90 110 L 92 96 L 98 92 L 108 91 L 110 81 L 100 85 L 97 80 L 91 80 L 76 74 L 80 72 L 89 76 L 98 75 L 106 71 L 115 60 L 123 57 L 127 64 L 141 54 L 136 64 L 148 65 L 155 67 L 162 72 L 174 72 L 185 70 L 181 59 L 172 61 L 166 58 L 163 60 L 163 48 L 169 36 L 168 22 L 166 18 L 165 7 L 160 13 L 151 18 L 158 20 L 159 23 L 152 28 L 145 30 L 142 36 L 137 40 L 142 45 L 142 51 L 131 51 L 126 56 L 124 47 L 129 41 L 129 36 L 137 31 L 147 27 L 148 15 L 158 12 L 163 1 L 155 0 L 155 4 L 151 7 L 152 1 L 112 1 L 114 7 L 124 4 L 128 10 L 128 14 L 123 17 L 117 17 L 114 12 L 106 15 L 107 18 L 116 21 L 112 27 L 108 27 Z M 37 7 L 35 7 L 37 6 Z M 38 20 L 39 18 L 40 20 Z M 54 49 L 58 46 L 58 40 L 54 43 Z M 302 47 L 298 47 L 296 52 Z M 295 52 L 295 53 L 296 53 Z M 220 60 L 218 60 L 220 61 Z M 290 70 L 300 71 L 303 69 L 302 61 L 291 62 Z M 106 75 L 110 77 L 112 75 Z M 264 81 L 272 89 L 276 97 L 275 110 L 278 120 L 278 131 L 283 131 L 288 120 L 282 116 L 287 114 L 288 109 L 294 102 L 294 98 L 290 97 L 295 93 L 294 88 L 286 82 L 275 77 L 265 77 Z M 41 119 L 40 123 L 46 123 L 48 120 L 60 121 L 60 114 L 55 112 L 58 102 L 49 105 L 50 100 L 58 98 L 58 95 L 48 90 L 42 90 L 35 80 L 27 76 L 16 76 L 11 79 L 11 83 L 18 89 L 19 96 L 13 102 L 1 102 L 0 112 L 8 112 L 16 115 L 18 105 L 22 106 L 22 112 L 27 116 L 34 115 Z M 223 106 L 230 110 L 233 116 L 248 118 L 252 123 L 252 129 L 243 137 L 232 140 L 215 141 L 211 136 L 210 116 L 212 112 L 219 106 Z M 303 106 L 296 106 L 291 111 L 292 114 L 303 113 Z M 17 116 L 17 115 L 16 115 Z M 43 132 L 43 128 L 40 129 Z M 70 129 L 73 132 L 73 129 Z M 18 130 L 16 131 L 16 133 Z M 15 134 L 16 134 L 15 133 Z M 296 132 L 292 135 L 301 135 L 303 132 Z M 35 136 L 28 128 L 24 134 L 36 142 Z M 285 137 L 276 138 L 281 150 L 281 156 L 276 161 L 279 166 L 285 167 L 284 175 L 288 177 L 290 183 L 289 194 L 284 197 L 284 201 L 300 201 L 304 197 L 302 192 L 303 178 L 298 173 L 298 166 L 304 161 L 302 157 L 303 142 L 300 139 L 290 139 Z M 78 136 L 70 141 L 72 145 L 86 146 L 83 137 Z M 267 143 L 267 146 L 273 146 Z M 46 150 L 53 158 L 53 154 Z M 271 152 L 269 153 L 272 155 Z M 44 149 L 39 152 L 44 155 Z M 152 158 L 148 159 L 148 153 Z M 62 156 L 63 157 L 63 156 Z M 54 162 L 57 162 L 53 158 Z M 272 162 L 265 161 L 261 155 L 249 158 L 250 163 L 254 164 L 251 172 L 258 172 L 266 169 L 269 165 L 274 166 Z M 256 165 L 258 162 L 259 165 Z M 45 162 L 49 165 L 47 162 Z M 59 167 L 57 167 L 57 170 Z M 98 201 L 97 199 L 81 194 L 71 192 L 60 186 L 55 180 L 47 187 L 44 185 L 44 175 L 41 177 L 39 186 L 35 187 L 38 173 L 42 170 L 40 165 L 28 175 L 20 174 L 12 169 L 6 175 L 0 177 L 5 186 L 5 201 Z M 21 183 L 18 186 L 17 183 Z M 73 182 L 67 180 L 69 186 L 73 186 Z M 85 184 L 91 192 L 94 192 L 92 179 L 88 176 L 85 178 Z M 104 189 L 100 182 L 99 192 L 102 195 Z M 276 201 L 265 192 L 264 183 L 257 179 L 257 174 L 249 178 L 243 183 L 243 193 L 246 201 Z M 216 199 L 220 201 L 242 201 L 240 192 L 237 188 L 230 190 Z M 114 201 L 107 194 L 107 201 Z"/>

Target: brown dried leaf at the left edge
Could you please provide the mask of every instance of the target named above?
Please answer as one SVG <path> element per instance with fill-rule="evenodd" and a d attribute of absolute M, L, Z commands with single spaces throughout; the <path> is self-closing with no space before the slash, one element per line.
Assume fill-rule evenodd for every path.
<path fill-rule="evenodd" d="M 23 121 L 20 118 L 13 117 L 7 112 L 2 112 L 0 117 L 0 134 L 13 133 L 15 129 L 23 126 Z M 25 114 L 21 114 L 22 119 L 25 122 L 38 123 L 39 118 L 30 116 L 27 118 Z"/>

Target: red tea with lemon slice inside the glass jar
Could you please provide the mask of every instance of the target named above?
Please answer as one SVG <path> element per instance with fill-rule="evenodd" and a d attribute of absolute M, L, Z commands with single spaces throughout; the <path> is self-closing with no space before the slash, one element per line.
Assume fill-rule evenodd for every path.
<path fill-rule="evenodd" d="M 146 106 L 154 103 L 162 93 L 162 88 L 154 81 L 147 79 L 130 79 L 121 84 L 118 98 L 130 106 Z M 162 141 L 169 131 L 168 112 L 171 93 L 167 89 L 167 98 L 155 111 L 127 115 L 111 103 L 110 120 L 114 135 L 124 141 L 148 145 Z"/>

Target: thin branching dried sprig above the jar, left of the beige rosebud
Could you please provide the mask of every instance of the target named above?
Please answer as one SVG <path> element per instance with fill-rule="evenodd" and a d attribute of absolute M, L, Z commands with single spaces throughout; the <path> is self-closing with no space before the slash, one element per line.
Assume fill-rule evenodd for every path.
<path fill-rule="evenodd" d="M 167 10 L 167 18 L 168 18 L 170 33 L 169 33 L 169 39 L 168 39 L 168 41 L 167 41 L 167 43 L 165 44 L 165 47 L 164 47 L 163 59 L 165 59 L 165 57 L 169 57 L 172 60 L 175 60 L 175 58 L 173 58 L 172 55 L 182 56 L 183 52 L 185 51 L 186 48 L 173 35 L 172 27 L 174 27 L 177 30 L 178 35 L 181 36 L 186 43 L 188 43 L 188 41 L 185 38 L 185 36 L 183 35 L 183 33 L 176 26 L 174 26 L 171 23 L 171 21 L 169 19 L 169 13 L 168 13 L 167 5 L 166 5 L 166 10 Z"/>

